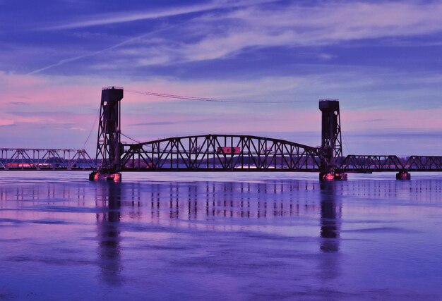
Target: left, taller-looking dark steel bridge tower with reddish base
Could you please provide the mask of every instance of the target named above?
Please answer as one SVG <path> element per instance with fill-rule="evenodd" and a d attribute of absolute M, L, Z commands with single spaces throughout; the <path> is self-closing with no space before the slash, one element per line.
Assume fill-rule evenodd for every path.
<path fill-rule="evenodd" d="M 90 180 L 121 181 L 121 99 L 123 99 L 123 87 L 102 89 L 95 156 L 96 162 L 99 158 L 102 158 L 102 162 L 99 170 L 90 174 Z"/>

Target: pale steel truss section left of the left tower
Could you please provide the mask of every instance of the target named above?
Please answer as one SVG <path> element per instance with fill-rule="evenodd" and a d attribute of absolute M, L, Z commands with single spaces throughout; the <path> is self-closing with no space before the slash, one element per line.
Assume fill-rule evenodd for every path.
<path fill-rule="evenodd" d="M 97 169 L 84 149 L 0 148 L 0 171 L 93 171 Z"/>

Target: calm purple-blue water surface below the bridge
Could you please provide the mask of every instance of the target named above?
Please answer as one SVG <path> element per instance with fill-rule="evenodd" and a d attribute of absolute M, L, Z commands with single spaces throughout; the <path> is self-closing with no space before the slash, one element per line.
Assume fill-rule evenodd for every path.
<path fill-rule="evenodd" d="M 0 300 L 442 300 L 442 174 L 0 172 Z"/>

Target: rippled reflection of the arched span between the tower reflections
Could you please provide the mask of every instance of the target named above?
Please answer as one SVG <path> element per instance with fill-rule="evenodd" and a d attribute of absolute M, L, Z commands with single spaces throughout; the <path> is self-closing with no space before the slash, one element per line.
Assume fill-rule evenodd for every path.
<path fill-rule="evenodd" d="M 316 216 L 320 210 L 309 192 L 321 188 L 309 182 L 129 184 L 121 190 L 121 206 L 131 207 L 133 219 L 153 222 Z"/>

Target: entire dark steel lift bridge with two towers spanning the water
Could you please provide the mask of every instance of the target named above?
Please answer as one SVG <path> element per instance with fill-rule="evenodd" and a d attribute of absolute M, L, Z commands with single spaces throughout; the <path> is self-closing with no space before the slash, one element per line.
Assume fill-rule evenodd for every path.
<path fill-rule="evenodd" d="M 1 170 L 89 170 L 90 180 L 121 180 L 121 172 L 235 171 L 317 172 L 321 180 L 347 173 L 442 171 L 442 156 L 342 155 L 337 99 L 321 99 L 321 146 L 252 135 L 194 135 L 149 142 L 121 142 L 123 87 L 102 89 L 95 159 L 84 149 L 0 149 Z"/>

